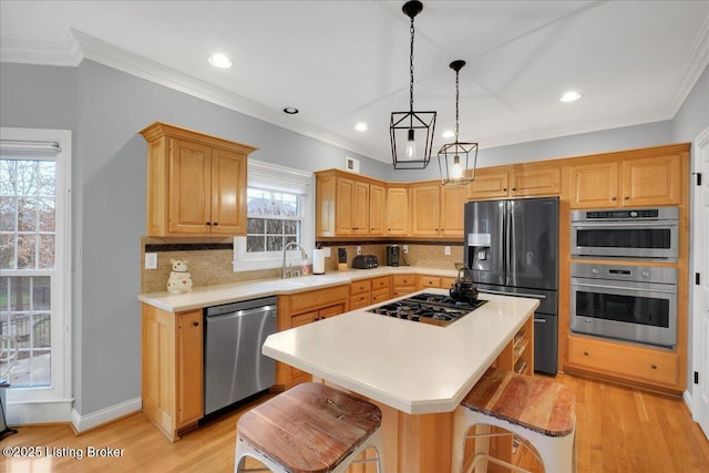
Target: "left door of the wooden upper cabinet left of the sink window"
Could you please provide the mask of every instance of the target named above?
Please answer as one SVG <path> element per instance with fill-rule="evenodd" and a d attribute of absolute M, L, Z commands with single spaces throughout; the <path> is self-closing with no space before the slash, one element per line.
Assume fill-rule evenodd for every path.
<path fill-rule="evenodd" d="M 212 150 L 172 140 L 169 153 L 169 232 L 208 234 L 212 223 Z"/>

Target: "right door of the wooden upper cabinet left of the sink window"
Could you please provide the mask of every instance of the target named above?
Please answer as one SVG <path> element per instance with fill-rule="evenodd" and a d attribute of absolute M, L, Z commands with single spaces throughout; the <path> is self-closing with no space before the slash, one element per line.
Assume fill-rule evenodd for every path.
<path fill-rule="evenodd" d="M 246 235 L 246 156 L 212 151 L 212 233 Z"/>

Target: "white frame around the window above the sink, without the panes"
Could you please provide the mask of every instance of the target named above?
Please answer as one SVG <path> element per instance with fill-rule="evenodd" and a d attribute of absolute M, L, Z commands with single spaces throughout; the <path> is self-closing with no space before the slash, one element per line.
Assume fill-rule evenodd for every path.
<path fill-rule="evenodd" d="M 307 171 L 278 166 L 249 158 L 247 186 L 302 195 L 300 245 L 312 261 L 315 247 L 315 175 Z M 247 253 L 246 237 L 234 237 L 234 273 L 275 269 L 282 266 L 282 251 Z M 288 250 L 286 264 L 302 265 L 300 251 Z"/>

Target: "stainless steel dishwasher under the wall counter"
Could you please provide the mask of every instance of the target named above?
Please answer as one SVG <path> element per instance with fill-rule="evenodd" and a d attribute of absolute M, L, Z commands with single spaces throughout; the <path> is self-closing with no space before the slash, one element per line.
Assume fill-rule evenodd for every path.
<path fill-rule="evenodd" d="M 205 415 L 276 382 L 276 361 L 261 354 L 266 337 L 275 332 L 275 297 L 205 309 Z"/>

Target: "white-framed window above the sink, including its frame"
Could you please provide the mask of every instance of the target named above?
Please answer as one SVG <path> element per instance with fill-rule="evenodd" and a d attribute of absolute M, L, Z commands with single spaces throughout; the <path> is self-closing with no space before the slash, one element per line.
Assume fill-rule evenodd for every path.
<path fill-rule="evenodd" d="M 234 238 L 235 271 L 279 268 L 291 241 L 312 248 L 312 173 L 249 160 L 247 236 Z M 288 263 L 302 264 L 295 247 L 286 256 Z"/>

